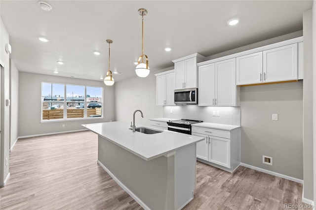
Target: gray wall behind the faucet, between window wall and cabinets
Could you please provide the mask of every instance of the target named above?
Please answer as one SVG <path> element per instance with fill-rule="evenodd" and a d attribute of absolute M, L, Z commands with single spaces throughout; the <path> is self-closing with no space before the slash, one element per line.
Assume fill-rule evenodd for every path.
<path fill-rule="evenodd" d="M 135 115 L 135 125 L 149 125 L 148 119 L 162 117 L 162 106 L 157 106 L 156 102 L 156 76 L 159 72 L 167 71 L 167 68 L 155 71 L 146 78 L 133 77 L 128 80 L 119 81 L 115 86 L 115 105 L 117 121 L 133 121 L 133 113 L 140 109 L 140 113 Z M 135 73 L 136 75 L 136 73 Z"/>

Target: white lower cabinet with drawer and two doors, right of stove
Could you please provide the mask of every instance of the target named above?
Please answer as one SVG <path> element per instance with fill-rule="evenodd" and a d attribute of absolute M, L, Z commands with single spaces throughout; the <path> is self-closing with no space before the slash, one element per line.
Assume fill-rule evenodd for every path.
<path fill-rule="evenodd" d="M 204 137 L 197 142 L 197 160 L 230 172 L 239 166 L 239 128 L 229 131 L 192 126 L 192 135 Z"/>

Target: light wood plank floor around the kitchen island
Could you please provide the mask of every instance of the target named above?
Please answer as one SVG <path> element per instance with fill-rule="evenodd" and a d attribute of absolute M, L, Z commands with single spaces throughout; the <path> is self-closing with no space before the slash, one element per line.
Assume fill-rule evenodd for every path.
<path fill-rule="evenodd" d="M 97 165 L 90 131 L 19 140 L 0 210 L 142 210 Z M 282 210 L 302 204 L 302 184 L 239 167 L 233 174 L 197 162 L 197 189 L 185 210 Z M 301 210 L 301 209 L 300 209 Z"/>

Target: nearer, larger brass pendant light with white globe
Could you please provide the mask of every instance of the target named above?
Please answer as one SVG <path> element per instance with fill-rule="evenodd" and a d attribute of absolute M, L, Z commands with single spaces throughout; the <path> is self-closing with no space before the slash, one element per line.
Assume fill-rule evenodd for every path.
<path fill-rule="evenodd" d="M 148 57 L 144 54 L 144 16 L 147 15 L 146 9 L 138 9 L 138 14 L 142 16 L 142 55 L 139 56 L 138 65 L 135 72 L 138 77 L 147 77 L 149 75 Z M 146 64 L 144 63 L 144 56 L 146 58 Z M 142 62 L 140 62 L 142 60 Z"/>

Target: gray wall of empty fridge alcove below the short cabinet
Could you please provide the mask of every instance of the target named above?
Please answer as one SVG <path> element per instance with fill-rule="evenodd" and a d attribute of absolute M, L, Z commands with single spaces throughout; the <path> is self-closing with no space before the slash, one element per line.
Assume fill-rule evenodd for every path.
<path fill-rule="evenodd" d="M 303 82 L 241 87 L 240 106 L 241 162 L 303 179 Z"/>

